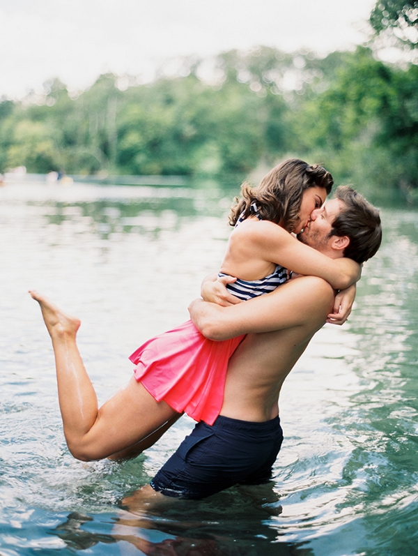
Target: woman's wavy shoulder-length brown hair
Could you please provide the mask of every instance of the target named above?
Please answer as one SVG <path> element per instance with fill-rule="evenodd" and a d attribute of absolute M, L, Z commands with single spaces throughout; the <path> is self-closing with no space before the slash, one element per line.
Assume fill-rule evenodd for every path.
<path fill-rule="evenodd" d="M 229 223 L 235 226 L 241 214 L 251 216 L 251 204 L 255 203 L 262 220 L 282 222 L 288 232 L 293 232 L 299 220 L 302 195 L 310 187 L 323 187 L 330 193 L 334 180 L 330 172 L 315 164 L 307 164 L 298 158 L 289 158 L 275 166 L 253 188 L 242 183 L 241 198 L 235 197 L 235 205 L 229 215 Z"/>

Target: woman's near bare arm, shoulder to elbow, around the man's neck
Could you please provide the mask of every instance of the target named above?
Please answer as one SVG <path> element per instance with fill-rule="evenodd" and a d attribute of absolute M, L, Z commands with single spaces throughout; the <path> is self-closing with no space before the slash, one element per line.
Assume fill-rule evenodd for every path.
<path fill-rule="evenodd" d="M 235 240 L 245 241 L 249 257 L 254 253 L 258 259 L 280 264 L 298 274 L 318 276 L 326 280 L 334 290 L 345 290 L 357 282 L 361 276 L 361 267 L 357 262 L 343 257 L 343 250 L 332 250 L 324 255 L 295 239 L 280 226 L 263 220 L 251 223 L 247 227 L 237 228 Z M 232 236 L 231 236 L 232 237 Z M 336 236 L 335 236 L 336 238 Z M 336 238 L 338 239 L 338 238 Z M 339 256 L 339 253 L 341 255 Z"/>

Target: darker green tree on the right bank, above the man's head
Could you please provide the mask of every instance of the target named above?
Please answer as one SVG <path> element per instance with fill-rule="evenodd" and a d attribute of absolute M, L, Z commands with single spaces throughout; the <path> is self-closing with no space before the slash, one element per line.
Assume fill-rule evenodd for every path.
<path fill-rule="evenodd" d="M 293 123 L 300 148 L 338 181 L 365 190 L 417 187 L 417 66 L 386 66 L 366 48 L 338 58 L 331 77 L 321 79 L 325 91 L 300 103 Z"/>

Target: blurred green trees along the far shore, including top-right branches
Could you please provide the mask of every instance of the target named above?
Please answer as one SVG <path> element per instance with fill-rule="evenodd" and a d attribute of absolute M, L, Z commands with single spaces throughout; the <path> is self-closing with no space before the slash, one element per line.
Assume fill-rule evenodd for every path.
<path fill-rule="evenodd" d="M 414 50 L 405 22 L 416 29 L 416 4 L 378 3 L 376 34 L 401 26 L 404 36 L 394 36 Z M 359 188 L 412 190 L 418 66 L 383 63 L 372 46 L 323 59 L 231 50 L 212 59 L 209 80 L 207 60 L 184 59 L 181 75 L 137 84 L 106 74 L 77 95 L 52 80 L 42 94 L 1 100 L 0 172 L 23 165 L 35 173 L 222 178 L 298 156 Z"/>

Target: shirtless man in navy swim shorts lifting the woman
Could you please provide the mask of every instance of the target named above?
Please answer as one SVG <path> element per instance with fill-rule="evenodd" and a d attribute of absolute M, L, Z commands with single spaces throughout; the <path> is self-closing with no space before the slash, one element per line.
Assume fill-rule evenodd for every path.
<path fill-rule="evenodd" d="M 347 256 L 362 263 L 380 246 L 380 216 L 361 195 L 340 187 L 333 200 L 312 213 L 298 238 L 334 259 Z M 334 308 L 334 296 L 321 278 L 303 276 L 245 303 L 191 303 L 192 320 L 207 338 L 247 336 L 229 361 L 217 421 L 213 426 L 196 425 L 150 486 L 125 499 L 131 509 L 149 499 L 199 499 L 236 483 L 270 479 L 283 439 L 278 404 L 281 386 L 314 333 L 330 322 L 327 317 Z M 224 300 L 229 299 L 226 294 Z M 338 324 L 346 319 L 333 317 Z"/>

